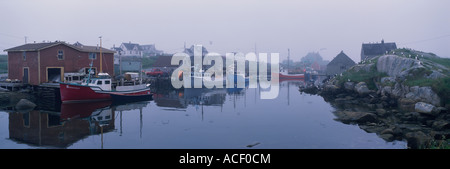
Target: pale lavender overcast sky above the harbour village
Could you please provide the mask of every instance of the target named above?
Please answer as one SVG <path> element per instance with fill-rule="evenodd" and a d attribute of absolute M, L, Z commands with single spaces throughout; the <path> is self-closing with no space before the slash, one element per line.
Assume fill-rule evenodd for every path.
<path fill-rule="evenodd" d="M 308 52 L 360 61 L 361 44 L 396 42 L 450 57 L 449 0 L 0 0 L 0 50 L 43 40 L 181 52 Z"/>

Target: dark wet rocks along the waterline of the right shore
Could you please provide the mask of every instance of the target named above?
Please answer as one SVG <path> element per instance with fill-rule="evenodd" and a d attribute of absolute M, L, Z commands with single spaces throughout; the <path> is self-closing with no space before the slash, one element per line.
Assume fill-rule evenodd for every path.
<path fill-rule="evenodd" d="M 368 90 L 364 82 L 354 85 L 353 90 L 351 84 L 345 86 L 326 83 L 323 88 L 312 86 L 300 91 L 322 96 L 336 108 L 337 121 L 357 124 L 387 142 L 406 140 L 409 148 L 428 148 L 450 138 L 447 108 Z"/>

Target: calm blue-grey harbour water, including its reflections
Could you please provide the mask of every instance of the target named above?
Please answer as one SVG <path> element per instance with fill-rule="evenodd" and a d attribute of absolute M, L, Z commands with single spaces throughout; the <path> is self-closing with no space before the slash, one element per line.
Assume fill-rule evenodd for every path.
<path fill-rule="evenodd" d="M 335 121 L 334 108 L 301 94 L 301 83 L 281 82 L 273 100 L 259 88 L 184 89 L 137 103 L 0 111 L 0 148 L 406 148 Z"/>

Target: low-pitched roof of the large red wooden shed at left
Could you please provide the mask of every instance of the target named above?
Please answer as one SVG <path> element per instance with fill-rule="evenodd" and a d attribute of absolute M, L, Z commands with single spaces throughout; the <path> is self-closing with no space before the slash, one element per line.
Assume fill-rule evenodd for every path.
<path fill-rule="evenodd" d="M 4 50 L 5 52 L 28 52 L 28 51 L 40 51 L 43 49 L 47 49 L 56 45 L 66 45 L 68 47 L 71 47 L 75 50 L 81 51 L 81 52 L 100 52 L 100 48 L 97 46 L 85 46 L 81 43 L 77 42 L 74 45 L 56 41 L 56 42 L 43 42 L 43 43 L 27 43 L 24 45 L 16 46 L 13 48 L 9 48 Z M 102 53 L 115 53 L 115 51 L 105 49 L 102 47 Z"/>

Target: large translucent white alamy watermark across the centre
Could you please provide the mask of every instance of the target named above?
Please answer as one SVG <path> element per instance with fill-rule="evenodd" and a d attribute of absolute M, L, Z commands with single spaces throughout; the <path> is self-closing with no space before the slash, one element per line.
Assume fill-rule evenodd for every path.
<path fill-rule="evenodd" d="M 208 53 L 203 57 L 203 47 L 194 46 L 193 63 L 186 53 L 173 55 L 171 64 L 179 65 L 171 75 L 174 88 L 244 88 L 246 81 L 249 88 L 268 89 L 261 91 L 261 99 L 274 99 L 279 92 L 279 53 L 270 53 L 268 62 L 267 53 L 226 53 L 225 63 L 218 53 Z M 181 65 L 180 65 L 181 61 Z M 212 64 L 214 61 L 214 65 Z M 248 61 L 248 77 L 246 74 L 246 61 Z M 270 76 L 267 65 L 270 63 Z M 224 65 L 225 64 L 225 65 Z M 204 65 L 210 66 L 206 71 Z M 224 72 L 225 71 L 225 72 Z M 270 80 L 269 80 L 270 78 Z M 258 83 L 259 81 L 259 83 Z"/>

